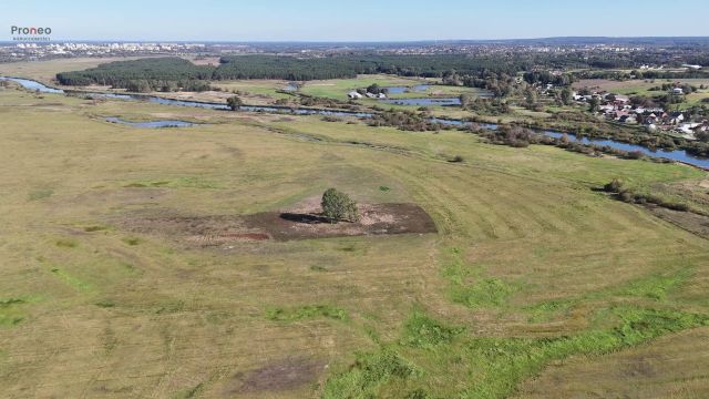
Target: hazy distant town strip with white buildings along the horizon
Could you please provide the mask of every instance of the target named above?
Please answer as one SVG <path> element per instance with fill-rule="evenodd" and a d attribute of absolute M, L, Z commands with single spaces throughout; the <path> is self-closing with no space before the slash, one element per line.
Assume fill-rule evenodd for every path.
<path fill-rule="evenodd" d="M 675 47 L 677 54 L 691 53 L 696 45 L 709 44 L 708 39 L 686 39 L 684 48 Z M 706 42 L 706 43 L 705 43 Z M 122 41 L 45 41 L 0 42 L 0 62 L 44 60 L 66 57 L 133 57 L 183 54 L 301 54 L 309 57 L 377 52 L 381 54 L 497 54 L 497 53 L 607 53 L 619 54 L 648 50 L 664 50 L 665 45 L 682 44 L 681 38 L 549 38 L 534 40 L 458 40 L 421 42 L 122 42 Z M 646 65 L 647 66 L 647 65 Z M 700 65 L 688 65 L 690 68 Z"/>

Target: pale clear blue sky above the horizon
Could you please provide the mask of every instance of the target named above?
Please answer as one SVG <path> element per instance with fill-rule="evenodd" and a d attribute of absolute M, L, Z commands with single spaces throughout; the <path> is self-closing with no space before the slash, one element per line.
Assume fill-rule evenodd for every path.
<path fill-rule="evenodd" d="M 10 29 L 56 40 L 415 41 L 709 35 L 707 0 L 6 1 Z"/>

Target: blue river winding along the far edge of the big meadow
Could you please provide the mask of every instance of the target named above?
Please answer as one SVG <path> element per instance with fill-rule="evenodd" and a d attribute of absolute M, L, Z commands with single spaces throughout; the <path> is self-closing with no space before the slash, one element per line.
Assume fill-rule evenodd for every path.
<path fill-rule="evenodd" d="M 134 100 L 134 101 L 148 101 L 163 105 L 174 105 L 174 106 L 194 106 L 194 108 L 206 108 L 214 110 L 228 110 L 228 106 L 224 103 L 210 103 L 210 102 L 198 102 L 198 101 L 183 101 L 183 100 L 172 100 L 165 99 L 156 95 L 143 95 L 143 94 L 116 94 L 116 93 L 105 93 L 105 92 L 81 92 L 81 91 L 64 91 L 62 89 L 55 89 L 47 86 L 40 82 L 22 79 L 22 78 L 3 78 L 0 76 L 0 80 L 9 80 L 19 83 L 24 89 L 35 90 L 42 93 L 54 93 L 54 94 L 69 94 L 69 93 L 83 93 L 92 96 L 103 96 L 110 99 L 119 99 L 119 100 Z M 290 113 L 298 115 L 332 115 L 332 116 L 357 116 L 357 117 L 371 117 L 372 113 L 368 112 L 348 112 L 348 111 L 330 111 L 330 110 L 315 110 L 315 109 L 294 109 L 287 106 L 258 106 L 258 105 L 244 105 L 240 108 L 243 111 L 256 111 L 256 112 L 273 112 L 273 113 Z M 452 124 L 452 125 L 464 125 L 467 122 L 462 120 L 454 119 L 436 119 L 432 117 L 432 122 L 443 123 L 443 124 Z M 182 121 L 154 121 L 153 125 L 145 125 L 140 127 L 161 127 L 164 126 L 165 123 L 172 125 L 175 122 Z M 186 123 L 186 122 L 182 122 Z M 497 129 L 495 124 L 480 124 L 481 127 L 484 129 Z M 538 133 L 551 136 L 551 137 L 561 137 L 564 135 L 562 132 L 554 131 L 538 131 Z M 689 165 L 698 166 L 705 170 L 709 170 L 709 158 L 698 157 L 690 154 L 687 154 L 685 150 L 672 150 L 672 151 L 654 151 L 648 147 L 637 145 L 637 144 L 628 144 L 618 142 L 610 139 L 588 139 L 588 137 L 577 137 L 575 134 L 567 134 L 569 140 L 577 141 L 584 144 L 596 144 L 596 145 L 607 145 L 609 147 L 623 151 L 639 151 L 647 156 L 655 157 L 666 157 L 668 160 L 682 162 Z"/>

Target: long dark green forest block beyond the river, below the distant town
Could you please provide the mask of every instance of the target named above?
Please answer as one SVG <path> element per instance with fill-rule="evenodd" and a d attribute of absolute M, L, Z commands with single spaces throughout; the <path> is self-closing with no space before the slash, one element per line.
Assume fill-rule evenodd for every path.
<path fill-rule="evenodd" d="M 176 58 L 115 61 L 84 71 L 61 72 L 56 80 L 65 85 L 101 84 L 123 89 L 176 91 L 193 81 L 235 79 L 282 79 L 307 81 L 356 78 L 358 74 L 389 73 L 402 76 L 445 78 L 450 84 L 470 86 L 505 85 L 520 71 L 531 71 L 552 62 L 540 55 L 382 55 L 347 54 L 321 58 L 290 55 L 223 57 L 218 66 L 195 65 Z M 492 78 L 492 83 L 491 83 Z M 202 84 L 202 86 L 204 86 Z"/>

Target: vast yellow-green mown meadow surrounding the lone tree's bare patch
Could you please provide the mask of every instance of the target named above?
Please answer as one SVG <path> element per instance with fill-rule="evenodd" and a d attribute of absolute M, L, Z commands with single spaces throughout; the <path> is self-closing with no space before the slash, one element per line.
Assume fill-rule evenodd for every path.
<path fill-rule="evenodd" d="M 594 190 L 705 172 L 14 89 L 0 117 L 3 397 L 709 396 L 708 242 Z M 130 228 L 330 186 L 415 203 L 438 233 L 197 247 Z"/>

